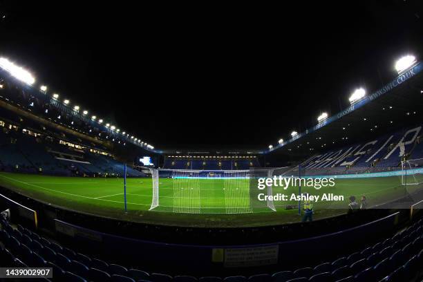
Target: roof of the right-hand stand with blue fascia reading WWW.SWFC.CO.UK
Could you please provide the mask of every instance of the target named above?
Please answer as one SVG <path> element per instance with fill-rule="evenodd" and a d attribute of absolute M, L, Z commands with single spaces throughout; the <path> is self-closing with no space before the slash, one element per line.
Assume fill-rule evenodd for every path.
<path fill-rule="evenodd" d="M 275 144 L 263 153 L 308 155 L 377 137 L 423 118 L 423 62 L 398 75 L 344 111 Z"/>

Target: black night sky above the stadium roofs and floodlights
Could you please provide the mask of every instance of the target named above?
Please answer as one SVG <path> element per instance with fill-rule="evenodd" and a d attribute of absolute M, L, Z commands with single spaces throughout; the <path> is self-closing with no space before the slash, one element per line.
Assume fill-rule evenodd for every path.
<path fill-rule="evenodd" d="M 264 149 L 423 56 L 422 1 L 32 2 L 0 0 L 0 55 L 157 149 Z"/>

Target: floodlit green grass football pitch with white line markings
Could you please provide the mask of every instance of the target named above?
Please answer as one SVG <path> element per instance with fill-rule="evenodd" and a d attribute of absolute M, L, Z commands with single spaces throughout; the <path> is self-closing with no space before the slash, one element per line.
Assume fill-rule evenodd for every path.
<path fill-rule="evenodd" d="M 197 181 L 196 185 L 200 187 L 200 195 L 197 195 L 199 199 L 194 199 L 193 202 L 193 199 L 188 197 L 192 195 L 189 194 L 189 191 L 175 190 L 172 179 L 160 178 L 160 206 L 149 211 L 152 197 L 151 178 L 128 178 L 126 185 L 128 212 L 125 214 L 122 178 L 76 178 L 0 173 L 1 187 L 64 209 L 122 220 L 195 227 L 277 225 L 301 220 L 301 216 L 298 215 L 297 201 L 274 202 L 276 212 L 272 212 L 265 207 L 265 203 L 259 203 L 259 201 L 254 203 L 254 199 L 250 200 L 245 197 L 249 193 L 248 191 L 237 191 L 234 187 L 225 189 L 222 180 L 216 178 L 214 180 L 198 179 Z M 245 187 L 243 181 L 248 180 L 240 181 L 239 186 Z M 307 191 L 312 195 L 323 193 L 344 195 L 344 202 L 314 203 L 314 218 L 318 219 L 344 214 L 348 207 L 348 198 L 352 195 L 357 198 L 366 195 L 370 206 L 400 198 L 407 192 L 400 181 L 399 177 L 354 178 L 337 180 L 335 187 L 319 190 L 307 188 L 302 191 Z M 419 188 L 417 185 L 407 187 L 409 193 L 412 192 L 410 189 Z M 235 194 L 234 191 L 236 191 Z M 274 194 L 297 194 L 298 188 L 292 187 L 285 191 L 274 188 L 273 192 Z M 197 212 L 200 211 L 200 214 L 189 213 L 193 210 L 187 207 L 193 205 Z M 292 205 L 294 209 L 286 209 L 288 205 Z M 247 212 L 250 206 L 252 209 L 244 214 L 236 214 L 237 210 L 230 209 L 229 206 L 236 206 L 241 209 L 241 212 Z M 185 209 L 175 207 L 185 207 Z M 227 214 L 228 212 L 229 214 Z"/>

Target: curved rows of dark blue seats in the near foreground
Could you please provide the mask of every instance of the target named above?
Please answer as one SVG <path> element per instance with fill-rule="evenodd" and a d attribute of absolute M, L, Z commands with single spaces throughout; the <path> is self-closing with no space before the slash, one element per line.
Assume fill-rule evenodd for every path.
<path fill-rule="evenodd" d="M 423 278 L 423 220 L 357 252 L 291 271 L 245 276 L 170 276 L 80 254 L 0 219 L 0 259 L 14 267 L 52 267 L 54 279 L 93 282 L 408 282 Z"/>

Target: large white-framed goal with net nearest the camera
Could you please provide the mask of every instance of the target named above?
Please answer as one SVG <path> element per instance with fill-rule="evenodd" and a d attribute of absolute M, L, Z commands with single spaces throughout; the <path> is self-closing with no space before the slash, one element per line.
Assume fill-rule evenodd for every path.
<path fill-rule="evenodd" d="M 250 170 L 150 169 L 150 210 L 189 214 L 255 212 Z M 267 191 L 267 193 L 272 193 Z M 276 210 L 266 203 L 267 211 Z"/>

